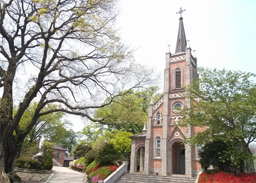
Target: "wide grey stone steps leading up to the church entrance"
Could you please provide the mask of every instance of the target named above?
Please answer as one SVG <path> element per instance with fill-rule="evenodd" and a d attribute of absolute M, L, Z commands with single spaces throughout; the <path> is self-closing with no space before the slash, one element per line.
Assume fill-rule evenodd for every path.
<path fill-rule="evenodd" d="M 152 182 L 152 183 L 195 183 L 197 178 L 185 177 L 185 175 L 146 175 L 146 174 L 134 174 L 125 173 L 121 176 L 116 183 L 142 183 L 142 182 Z"/>

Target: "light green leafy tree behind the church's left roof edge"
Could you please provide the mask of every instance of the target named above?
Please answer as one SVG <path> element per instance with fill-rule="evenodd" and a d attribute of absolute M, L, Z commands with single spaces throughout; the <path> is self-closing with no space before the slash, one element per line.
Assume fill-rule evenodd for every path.
<path fill-rule="evenodd" d="M 104 124 L 108 124 L 106 130 L 124 129 L 133 134 L 141 133 L 147 118 L 148 104 L 154 95 L 159 97 L 159 94 L 155 94 L 157 90 L 157 87 L 151 87 L 119 96 L 110 106 L 98 109 L 95 119 L 103 119 Z M 99 126 L 104 128 L 102 124 L 97 127 Z"/>

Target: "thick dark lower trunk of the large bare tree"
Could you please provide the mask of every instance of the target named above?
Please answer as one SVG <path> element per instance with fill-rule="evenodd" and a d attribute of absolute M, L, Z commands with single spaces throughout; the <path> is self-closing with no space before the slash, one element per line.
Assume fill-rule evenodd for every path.
<path fill-rule="evenodd" d="M 2 126 L 3 127 L 3 126 Z M 3 129 L 3 128 L 2 128 Z M 7 130 L 0 133 L 0 182 L 1 183 L 18 183 L 22 179 L 18 177 L 14 169 L 14 163 L 17 158 L 20 146 L 14 141 L 13 134 Z"/>

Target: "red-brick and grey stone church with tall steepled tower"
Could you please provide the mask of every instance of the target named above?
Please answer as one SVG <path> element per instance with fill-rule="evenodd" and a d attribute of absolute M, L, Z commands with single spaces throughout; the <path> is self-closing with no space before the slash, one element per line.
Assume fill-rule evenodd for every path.
<path fill-rule="evenodd" d="M 148 107 L 147 125 L 142 134 L 131 136 L 130 173 L 195 177 L 200 172 L 200 147 L 192 148 L 183 142 L 202 129 L 177 123 L 183 118 L 179 110 L 190 107 L 191 101 L 185 98 L 184 86 L 190 85 L 197 77 L 196 69 L 197 59 L 187 46 L 183 18 L 180 17 L 175 54 L 166 53 L 164 94 Z"/>

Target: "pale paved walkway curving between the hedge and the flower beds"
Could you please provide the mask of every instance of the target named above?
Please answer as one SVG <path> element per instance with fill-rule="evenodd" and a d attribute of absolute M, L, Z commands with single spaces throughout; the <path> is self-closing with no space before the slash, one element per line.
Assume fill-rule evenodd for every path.
<path fill-rule="evenodd" d="M 53 175 L 46 181 L 47 183 L 84 183 L 86 174 L 77 172 L 66 167 L 53 167 Z"/>

